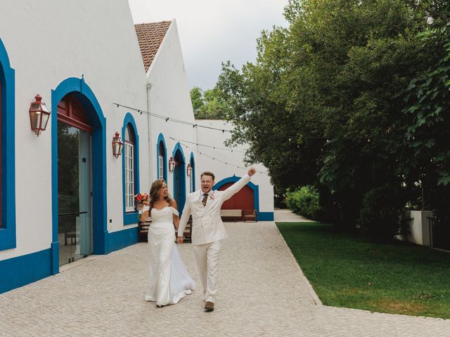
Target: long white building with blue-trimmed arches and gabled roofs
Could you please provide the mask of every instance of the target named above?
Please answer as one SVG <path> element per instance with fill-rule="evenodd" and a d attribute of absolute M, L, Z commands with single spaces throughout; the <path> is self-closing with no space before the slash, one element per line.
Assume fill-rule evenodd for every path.
<path fill-rule="evenodd" d="M 175 20 L 134 27 L 126 0 L 3 1 L 0 86 L 0 293 L 135 244 L 133 196 L 158 177 L 182 208 L 200 172 L 213 171 L 219 188 L 246 171 L 235 167 L 241 152 L 203 148 L 223 148 L 227 135 L 200 126 L 223 121 L 193 117 Z M 37 94 L 51 110 L 39 137 Z M 273 220 L 268 176 L 249 188 L 259 220 Z"/>

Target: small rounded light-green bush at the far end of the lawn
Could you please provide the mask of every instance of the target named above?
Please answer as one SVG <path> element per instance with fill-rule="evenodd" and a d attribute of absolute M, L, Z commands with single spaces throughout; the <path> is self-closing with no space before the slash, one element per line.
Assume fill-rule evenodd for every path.
<path fill-rule="evenodd" d="M 316 219 L 321 211 L 319 191 L 313 186 L 303 186 L 286 192 L 286 204 L 294 212 L 307 218 Z"/>

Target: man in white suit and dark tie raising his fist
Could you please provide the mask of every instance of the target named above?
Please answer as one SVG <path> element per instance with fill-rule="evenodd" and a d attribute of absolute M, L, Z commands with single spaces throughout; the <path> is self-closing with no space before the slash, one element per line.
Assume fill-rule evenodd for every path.
<path fill-rule="evenodd" d="M 226 238 L 224 223 L 220 217 L 222 204 L 233 194 L 247 185 L 255 174 L 250 168 L 248 173 L 224 191 L 212 191 L 214 174 L 203 172 L 200 176 L 202 190 L 188 194 L 183 214 L 181 215 L 176 242 L 183 243 L 183 232 L 192 214 L 192 246 L 198 272 L 205 293 L 205 310 L 214 310 L 214 294 L 217 291 L 218 263 L 222 247 L 221 241 Z"/>

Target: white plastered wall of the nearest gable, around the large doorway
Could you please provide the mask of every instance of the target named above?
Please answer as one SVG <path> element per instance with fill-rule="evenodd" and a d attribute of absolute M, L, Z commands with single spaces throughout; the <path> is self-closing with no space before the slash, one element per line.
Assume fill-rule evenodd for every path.
<path fill-rule="evenodd" d="M 51 244 L 51 121 L 37 138 L 28 109 L 39 93 L 55 114 L 51 90 L 69 77 L 84 74 L 106 117 L 108 229 L 122 229 L 122 161 L 113 157 L 111 141 L 127 110 L 113 103 L 146 107 L 146 74 L 127 0 L 5 0 L 0 37 L 15 70 L 17 211 L 17 248 L 0 251 L 0 260 Z M 147 139 L 146 117 L 133 115 L 140 139 Z M 147 153 L 141 146 L 141 172 Z M 141 185 L 148 186 L 147 175 Z"/>

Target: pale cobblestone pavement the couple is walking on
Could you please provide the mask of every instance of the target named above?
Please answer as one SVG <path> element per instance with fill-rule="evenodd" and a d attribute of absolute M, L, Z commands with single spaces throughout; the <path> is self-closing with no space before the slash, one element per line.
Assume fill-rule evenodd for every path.
<path fill-rule="evenodd" d="M 216 310 L 198 283 L 179 304 L 143 300 L 144 243 L 0 295 L 0 336 L 450 336 L 450 320 L 321 305 L 272 222 L 226 223 Z"/>

